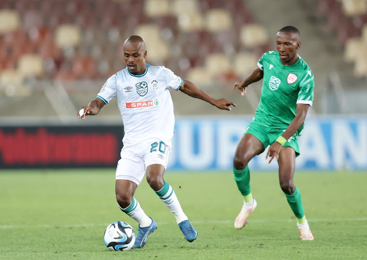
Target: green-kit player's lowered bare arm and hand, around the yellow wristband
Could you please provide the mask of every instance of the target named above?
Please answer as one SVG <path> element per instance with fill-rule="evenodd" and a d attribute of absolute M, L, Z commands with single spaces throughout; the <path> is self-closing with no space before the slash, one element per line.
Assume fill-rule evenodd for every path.
<path fill-rule="evenodd" d="M 287 129 L 281 135 L 282 137 L 284 137 L 285 140 L 288 140 L 302 126 L 302 124 L 304 123 L 304 120 L 306 118 L 307 111 L 308 111 L 309 107 L 310 107 L 310 105 L 308 105 L 308 104 L 297 104 L 295 118 L 292 120 L 292 122 L 289 124 Z M 282 148 L 282 145 L 279 142 L 275 141 L 269 147 L 268 152 L 266 153 L 265 159 L 268 159 L 268 156 L 270 156 L 269 163 L 271 163 L 274 156 L 275 156 L 275 158 L 276 158 L 275 160 L 277 161 L 281 148 Z"/>

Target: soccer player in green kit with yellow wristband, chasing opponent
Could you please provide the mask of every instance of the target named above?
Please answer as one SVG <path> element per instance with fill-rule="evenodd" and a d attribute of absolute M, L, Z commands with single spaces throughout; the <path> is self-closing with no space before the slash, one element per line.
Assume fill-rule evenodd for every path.
<path fill-rule="evenodd" d="M 257 206 L 251 194 L 248 163 L 270 145 L 265 159 L 269 157 L 271 163 L 275 158 L 278 162 L 280 188 L 297 217 L 300 239 L 313 240 L 300 192 L 293 183 L 296 157 L 299 155 L 297 136 L 303 129 L 314 95 L 314 75 L 297 54 L 300 46 L 298 29 L 283 27 L 276 34 L 278 51 L 264 53 L 252 73 L 243 82 L 234 84 L 233 89 L 240 89 L 243 95 L 251 83 L 263 79 L 260 103 L 233 159 L 234 179 L 244 197 L 234 227 L 242 229 Z"/>

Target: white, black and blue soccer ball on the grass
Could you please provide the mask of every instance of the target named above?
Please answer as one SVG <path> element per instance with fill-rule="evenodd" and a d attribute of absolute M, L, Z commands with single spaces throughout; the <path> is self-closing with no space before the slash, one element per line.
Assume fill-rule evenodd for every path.
<path fill-rule="evenodd" d="M 135 233 L 128 223 L 116 221 L 107 226 L 103 238 L 111 251 L 127 251 L 134 245 Z"/>

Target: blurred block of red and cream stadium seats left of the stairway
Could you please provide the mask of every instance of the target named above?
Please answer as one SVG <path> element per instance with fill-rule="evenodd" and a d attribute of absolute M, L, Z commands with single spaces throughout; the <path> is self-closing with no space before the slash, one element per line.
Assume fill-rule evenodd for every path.
<path fill-rule="evenodd" d="M 138 34 L 148 63 L 181 76 L 205 70 L 207 82 L 207 74 L 227 73 L 238 52 L 261 55 L 268 36 L 253 22 L 243 0 L 2 0 L 0 73 L 19 67 L 39 79 L 104 80 L 124 67 L 123 40 Z"/>

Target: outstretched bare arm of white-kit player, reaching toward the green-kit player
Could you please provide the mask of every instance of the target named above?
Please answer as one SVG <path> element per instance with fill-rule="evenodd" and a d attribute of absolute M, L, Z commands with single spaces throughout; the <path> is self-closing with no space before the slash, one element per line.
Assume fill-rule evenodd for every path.
<path fill-rule="evenodd" d="M 187 80 L 184 80 L 183 85 L 180 87 L 180 90 L 184 92 L 186 95 L 189 95 L 190 97 L 199 98 L 201 100 L 206 101 L 207 103 L 223 110 L 231 110 L 230 105 L 233 107 L 236 107 L 236 105 L 233 102 L 228 101 L 225 98 L 221 99 L 213 99 L 209 97 L 202 89 L 197 87 L 192 82 L 189 82 Z"/>

